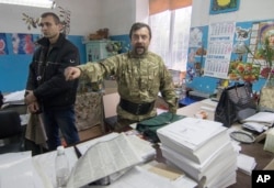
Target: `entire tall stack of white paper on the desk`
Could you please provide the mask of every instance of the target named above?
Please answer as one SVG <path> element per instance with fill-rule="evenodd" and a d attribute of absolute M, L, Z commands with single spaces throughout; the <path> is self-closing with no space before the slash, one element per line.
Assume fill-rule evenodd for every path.
<path fill-rule="evenodd" d="M 157 131 L 162 155 L 205 187 L 236 183 L 237 152 L 219 122 L 185 118 Z"/>

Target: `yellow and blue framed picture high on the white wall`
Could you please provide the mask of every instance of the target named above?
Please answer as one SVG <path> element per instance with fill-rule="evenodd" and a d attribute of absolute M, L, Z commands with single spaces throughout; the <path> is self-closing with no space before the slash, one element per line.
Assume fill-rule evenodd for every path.
<path fill-rule="evenodd" d="M 209 14 L 237 11 L 240 0 L 210 0 Z"/>

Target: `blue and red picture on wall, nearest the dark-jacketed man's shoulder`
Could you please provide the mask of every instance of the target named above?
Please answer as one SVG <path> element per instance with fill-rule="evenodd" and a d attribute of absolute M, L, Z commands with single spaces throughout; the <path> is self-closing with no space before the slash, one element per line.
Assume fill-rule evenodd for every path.
<path fill-rule="evenodd" d="M 34 47 L 32 34 L 12 34 L 13 54 L 33 54 Z"/>

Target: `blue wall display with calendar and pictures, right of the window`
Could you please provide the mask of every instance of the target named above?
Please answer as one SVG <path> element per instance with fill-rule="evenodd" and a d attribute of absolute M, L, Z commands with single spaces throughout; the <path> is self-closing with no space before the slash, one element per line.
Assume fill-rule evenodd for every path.
<path fill-rule="evenodd" d="M 196 89 L 202 91 L 207 88 L 216 88 L 218 80 L 229 79 L 228 73 L 231 63 L 239 60 L 237 46 L 240 43 L 247 45 L 252 54 L 256 54 L 263 38 L 271 36 L 273 36 L 274 44 L 274 20 L 221 22 L 191 27 L 186 67 L 186 79 L 190 86 L 197 87 L 198 84 Z M 222 49 L 222 52 L 217 55 L 214 53 L 218 52 L 217 49 Z M 264 59 L 254 58 L 247 52 L 240 55 L 243 63 L 258 64 L 261 70 L 265 67 Z M 260 86 L 261 78 L 263 77 L 260 76 L 258 82 Z M 254 82 L 255 85 L 256 82 Z"/>

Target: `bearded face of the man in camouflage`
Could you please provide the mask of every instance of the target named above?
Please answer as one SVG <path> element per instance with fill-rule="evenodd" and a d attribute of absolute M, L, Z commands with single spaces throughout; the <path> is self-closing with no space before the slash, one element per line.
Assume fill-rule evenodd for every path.
<path fill-rule="evenodd" d="M 132 34 L 133 52 L 136 55 L 142 55 L 148 51 L 150 44 L 149 31 L 147 27 L 136 30 Z"/>

